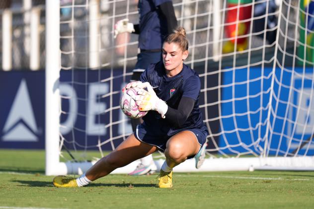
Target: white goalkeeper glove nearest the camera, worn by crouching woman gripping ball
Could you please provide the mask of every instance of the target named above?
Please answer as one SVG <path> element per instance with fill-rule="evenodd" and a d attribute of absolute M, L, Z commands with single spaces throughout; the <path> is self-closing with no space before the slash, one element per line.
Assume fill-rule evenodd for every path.
<path fill-rule="evenodd" d="M 168 105 L 161 99 L 159 99 L 149 82 L 143 83 L 143 86 L 147 87 L 147 91 L 143 88 L 138 90 L 138 95 L 135 97 L 136 104 L 139 106 L 140 111 L 156 110 L 161 118 L 165 118 L 168 110 Z"/>

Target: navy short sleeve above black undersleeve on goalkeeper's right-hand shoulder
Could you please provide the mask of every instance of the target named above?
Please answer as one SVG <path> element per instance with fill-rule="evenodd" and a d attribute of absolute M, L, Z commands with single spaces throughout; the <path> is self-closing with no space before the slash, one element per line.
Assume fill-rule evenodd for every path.
<path fill-rule="evenodd" d="M 189 97 L 197 100 L 201 90 L 200 78 L 196 75 L 189 77 L 183 85 L 182 97 Z"/>

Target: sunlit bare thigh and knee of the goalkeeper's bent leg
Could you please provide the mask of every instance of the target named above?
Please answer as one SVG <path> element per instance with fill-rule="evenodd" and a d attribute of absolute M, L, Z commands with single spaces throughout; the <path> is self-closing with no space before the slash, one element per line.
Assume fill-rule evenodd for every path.
<path fill-rule="evenodd" d="M 191 131 L 182 131 L 168 139 L 166 147 L 168 151 L 171 149 L 180 150 L 185 156 L 197 154 L 200 149 L 200 144 Z"/>

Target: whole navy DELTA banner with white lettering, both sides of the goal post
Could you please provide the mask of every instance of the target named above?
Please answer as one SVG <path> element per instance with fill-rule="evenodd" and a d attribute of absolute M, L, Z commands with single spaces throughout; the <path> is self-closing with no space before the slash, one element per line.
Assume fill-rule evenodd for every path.
<path fill-rule="evenodd" d="M 69 149 L 101 144 L 112 150 L 132 132 L 119 108 L 129 79 L 122 75 L 123 70 L 61 71 L 60 132 Z M 0 71 L 0 86 L 0 148 L 44 149 L 45 71 Z M 109 138 L 114 140 L 105 142 Z"/>

